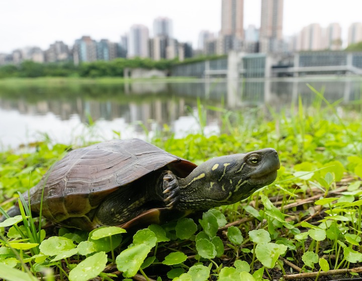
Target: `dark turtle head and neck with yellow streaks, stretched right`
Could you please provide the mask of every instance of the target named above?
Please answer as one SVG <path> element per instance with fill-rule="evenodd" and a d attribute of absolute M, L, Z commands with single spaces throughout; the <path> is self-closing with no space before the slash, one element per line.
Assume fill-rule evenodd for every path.
<path fill-rule="evenodd" d="M 279 168 L 274 149 L 213 158 L 180 179 L 177 208 L 204 210 L 233 204 L 273 183 Z"/>

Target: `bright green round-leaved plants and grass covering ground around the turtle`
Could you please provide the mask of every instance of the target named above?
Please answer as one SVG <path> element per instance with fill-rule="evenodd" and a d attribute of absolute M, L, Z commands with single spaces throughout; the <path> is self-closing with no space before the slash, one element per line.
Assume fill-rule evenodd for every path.
<path fill-rule="evenodd" d="M 234 113 L 199 104 L 200 133 L 175 139 L 165 128 L 158 147 L 195 163 L 275 148 L 275 183 L 243 202 L 200 218 L 150 225 L 135 233 L 104 227 L 87 233 L 38 222 L 17 191 L 35 185 L 74 146 L 41 141 L 0 153 L 0 206 L 22 215 L 0 223 L 0 278 L 7 280 L 351 279 L 362 272 L 361 112 L 339 110 L 321 92 L 283 112 Z M 337 111 L 338 109 L 338 111 Z M 220 111 L 221 133 L 203 132 L 205 111 Z M 338 113 L 337 113 L 338 112 Z M 115 137 L 120 136 L 115 132 Z M 84 144 L 86 145 L 86 144 Z M 22 223 L 20 223 L 22 222 Z M 9 227 L 9 232 L 4 232 Z"/>

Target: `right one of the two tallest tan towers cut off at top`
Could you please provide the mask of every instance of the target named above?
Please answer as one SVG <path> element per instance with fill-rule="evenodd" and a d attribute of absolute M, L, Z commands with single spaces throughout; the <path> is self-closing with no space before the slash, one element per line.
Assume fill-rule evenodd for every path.
<path fill-rule="evenodd" d="M 261 0 L 260 52 L 280 50 L 283 39 L 284 0 Z"/>

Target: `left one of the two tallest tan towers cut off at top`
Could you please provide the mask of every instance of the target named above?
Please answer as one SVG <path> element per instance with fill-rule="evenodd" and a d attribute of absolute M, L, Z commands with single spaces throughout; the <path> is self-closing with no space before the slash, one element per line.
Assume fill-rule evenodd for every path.
<path fill-rule="evenodd" d="M 244 38 L 244 0 L 222 0 L 221 35 Z"/>

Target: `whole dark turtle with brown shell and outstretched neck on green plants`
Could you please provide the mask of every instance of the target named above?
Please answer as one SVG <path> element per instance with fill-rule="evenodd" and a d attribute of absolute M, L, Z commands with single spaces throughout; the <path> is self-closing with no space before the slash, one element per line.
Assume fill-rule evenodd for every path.
<path fill-rule="evenodd" d="M 138 138 L 113 139 L 70 151 L 23 195 L 32 214 L 56 224 L 127 229 L 238 202 L 273 183 L 279 168 L 271 148 L 197 166 Z M 17 214 L 18 206 L 8 211 Z"/>

